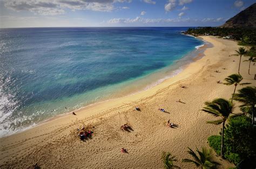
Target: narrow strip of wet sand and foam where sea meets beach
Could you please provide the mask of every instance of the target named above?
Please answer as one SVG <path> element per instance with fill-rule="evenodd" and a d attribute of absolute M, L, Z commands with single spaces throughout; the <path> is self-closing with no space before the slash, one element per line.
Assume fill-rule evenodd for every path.
<path fill-rule="evenodd" d="M 189 36 L 187 34 L 184 34 L 184 35 Z M 191 37 L 194 37 L 194 36 L 191 36 Z M 194 46 L 193 51 L 188 52 L 181 59 L 175 60 L 173 65 L 174 66 L 177 65 L 177 63 L 180 62 L 180 61 L 181 62 L 186 61 L 185 64 L 181 64 L 181 65 L 179 65 L 178 67 L 175 67 L 175 68 L 172 68 L 173 65 L 166 66 L 164 68 L 161 68 L 161 69 L 157 70 L 156 72 L 153 72 L 151 74 L 147 74 L 145 76 L 142 76 L 141 78 L 139 78 L 135 82 L 131 82 L 131 83 L 133 85 L 133 83 L 134 84 L 138 83 L 140 81 L 143 81 L 143 79 L 150 79 L 151 76 L 162 74 L 163 72 L 169 72 L 171 74 L 169 74 L 167 76 L 164 76 L 161 79 L 158 79 L 157 81 L 151 81 L 149 85 L 146 85 L 146 86 L 140 88 L 139 90 L 131 90 L 131 91 L 125 93 L 125 94 L 119 94 L 119 95 L 114 93 L 114 95 L 117 95 L 117 96 L 114 96 L 114 98 L 109 97 L 109 98 L 106 98 L 106 100 L 103 99 L 102 101 L 92 102 L 92 103 L 89 103 L 88 105 L 85 105 L 85 106 L 77 108 L 77 109 L 72 109 L 72 110 L 69 110 L 69 111 L 61 112 L 60 114 L 57 114 L 53 117 L 44 119 L 43 121 L 41 121 L 39 123 L 30 125 L 30 126 L 26 126 L 26 127 L 22 128 L 21 130 L 11 132 L 9 134 L 1 136 L 0 138 L 8 137 L 8 136 L 11 136 L 11 135 L 15 135 L 16 133 L 21 133 L 21 132 L 24 132 L 26 130 L 30 130 L 30 129 L 34 128 L 35 126 L 37 126 L 37 125 L 48 123 L 48 122 L 50 122 L 52 120 L 55 120 L 57 118 L 68 116 L 68 115 L 72 114 L 72 112 L 83 111 L 83 110 L 86 110 L 86 108 L 97 106 L 97 104 L 101 104 L 101 103 L 104 103 L 104 102 L 109 102 L 109 101 L 113 101 L 113 100 L 117 100 L 117 99 L 122 99 L 123 97 L 126 97 L 126 96 L 136 95 L 136 94 L 142 93 L 143 91 L 150 90 L 151 88 L 153 88 L 155 86 L 158 86 L 160 83 L 163 83 L 165 80 L 173 78 L 174 76 L 177 76 L 182 71 L 184 71 L 184 69 L 188 65 L 190 65 L 192 62 L 197 61 L 198 59 L 200 59 L 201 57 L 204 56 L 203 53 L 204 53 L 205 49 L 208 47 L 208 45 L 211 45 L 211 44 L 207 44 L 207 41 L 204 41 L 202 38 L 199 38 L 199 37 L 194 37 L 194 38 L 199 39 L 200 41 L 203 41 L 204 44 Z M 180 71 L 178 73 L 176 73 L 178 70 L 180 70 Z M 127 85 L 125 87 L 127 87 Z"/>

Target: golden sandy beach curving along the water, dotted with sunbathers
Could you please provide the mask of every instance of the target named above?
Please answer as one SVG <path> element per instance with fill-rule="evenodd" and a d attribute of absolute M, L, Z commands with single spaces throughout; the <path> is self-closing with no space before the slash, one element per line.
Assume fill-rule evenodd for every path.
<path fill-rule="evenodd" d="M 222 82 L 228 75 L 237 73 L 239 64 L 239 57 L 229 57 L 238 50 L 237 42 L 212 36 L 201 38 L 212 44 L 204 51 L 204 57 L 149 90 L 94 104 L 77 110 L 76 116 L 59 116 L 0 138 L 1 168 L 26 168 L 36 163 L 42 168 L 162 168 L 164 151 L 176 156 L 181 168 L 196 168 L 181 163 L 181 159 L 190 158 L 187 147 L 193 150 L 208 147 L 207 137 L 218 135 L 221 128 L 221 125 L 207 124 L 206 121 L 216 117 L 200 109 L 205 101 L 231 97 L 233 86 L 217 81 Z M 245 59 L 243 57 L 242 61 Z M 214 72 L 216 70 L 220 73 Z M 256 66 L 251 64 L 251 75 L 247 72 L 248 62 L 241 62 L 244 82 L 256 86 L 253 80 Z M 135 107 L 142 111 L 134 110 Z M 238 113 L 239 108 L 234 112 Z M 178 128 L 167 128 L 168 119 Z M 133 131 L 120 130 L 125 123 Z M 92 139 L 85 142 L 77 136 L 77 129 L 83 125 L 94 132 Z M 121 153 L 122 147 L 129 153 Z M 222 164 L 220 168 L 233 167 L 220 157 L 215 156 L 215 159 Z"/>

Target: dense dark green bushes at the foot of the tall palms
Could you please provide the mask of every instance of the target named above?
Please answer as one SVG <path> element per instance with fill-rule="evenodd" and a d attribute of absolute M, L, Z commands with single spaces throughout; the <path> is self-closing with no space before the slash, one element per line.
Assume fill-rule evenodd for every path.
<path fill-rule="evenodd" d="M 235 116 L 228 119 L 224 129 L 224 157 L 234 163 L 256 158 L 254 140 L 256 130 L 251 125 L 251 119 L 246 115 Z M 208 137 L 208 144 L 220 155 L 221 136 Z"/>

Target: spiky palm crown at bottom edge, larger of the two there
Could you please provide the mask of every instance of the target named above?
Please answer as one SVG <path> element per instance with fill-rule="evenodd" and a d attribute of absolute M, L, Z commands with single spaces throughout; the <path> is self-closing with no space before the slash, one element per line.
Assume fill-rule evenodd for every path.
<path fill-rule="evenodd" d="M 190 149 L 190 147 L 188 147 L 188 149 Z M 186 158 L 182 161 L 185 163 L 194 163 L 197 167 L 200 168 L 214 168 L 215 165 L 219 165 L 219 163 L 213 161 L 212 159 L 212 149 L 206 149 L 205 147 L 202 147 L 201 149 L 202 151 L 197 149 L 199 156 L 196 154 L 196 152 L 190 149 L 187 152 L 193 157 L 193 160 Z"/>

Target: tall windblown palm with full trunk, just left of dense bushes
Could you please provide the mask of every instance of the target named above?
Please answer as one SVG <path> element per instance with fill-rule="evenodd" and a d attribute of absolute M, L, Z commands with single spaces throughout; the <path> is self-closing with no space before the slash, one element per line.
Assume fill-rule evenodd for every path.
<path fill-rule="evenodd" d="M 224 128 L 225 128 L 225 122 L 228 119 L 228 116 L 232 114 L 233 111 L 233 103 L 225 100 L 224 98 L 215 98 L 212 102 L 205 102 L 206 107 L 204 107 L 202 110 L 205 112 L 208 112 L 212 114 L 213 116 L 221 117 L 221 119 L 217 121 L 208 121 L 207 123 L 213 123 L 213 124 L 223 124 L 222 126 L 222 132 L 221 132 L 221 151 L 220 156 L 221 158 L 224 158 Z"/>

